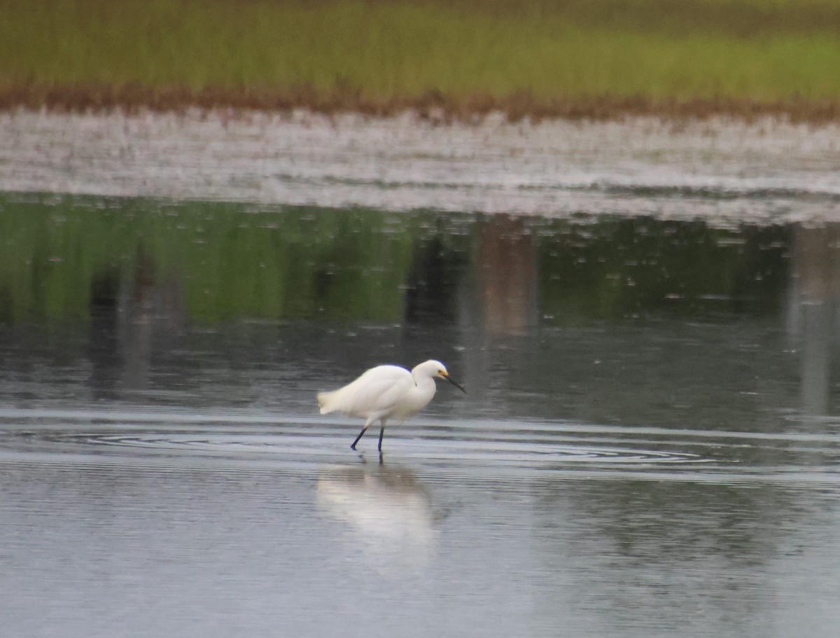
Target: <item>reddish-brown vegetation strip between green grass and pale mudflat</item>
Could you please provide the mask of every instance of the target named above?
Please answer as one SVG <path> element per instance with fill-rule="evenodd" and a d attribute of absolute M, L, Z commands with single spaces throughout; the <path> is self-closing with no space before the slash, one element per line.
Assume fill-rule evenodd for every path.
<path fill-rule="evenodd" d="M 336 88 L 330 92 L 312 87 L 288 89 L 253 87 L 186 86 L 148 87 L 137 83 L 114 86 L 99 83 L 41 86 L 26 84 L 0 88 L 0 110 L 26 108 L 60 113 L 139 110 L 183 112 L 189 108 L 232 109 L 283 112 L 306 108 L 316 113 L 361 113 L 390 116 L 411 110 L 424 119 L 470 121 L 487 113 L 505 113 L 507 119 L 595 119 L 653 116 L 666 120 L 708 119 L 726 116 L 752 121 L 771 116 L 794 123 L 827 124 L 840 122 L 840 101 L 785 98 L 757 101 L 749 98 L 649 98 L 644 96 L 592 96 L 539 98 L 532 92 L 494 96 L 486 93 L 449 95 L 430 91 L 421 95 L 365 98 L 354 89 Z"/>

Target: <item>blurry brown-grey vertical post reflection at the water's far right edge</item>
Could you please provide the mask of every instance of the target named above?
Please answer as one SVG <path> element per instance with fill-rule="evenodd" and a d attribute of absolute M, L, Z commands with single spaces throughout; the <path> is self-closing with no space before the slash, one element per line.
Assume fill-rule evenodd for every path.
<path fill-rule="evenodd" d="M 827 414 L 840 299 L 840 224 L 797 225 L 794 277 L 791 327 L 801 340 L 802 409 L 806 414 Z"/>

